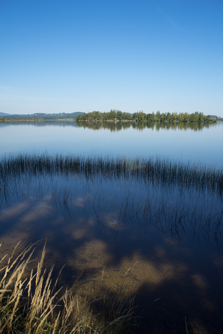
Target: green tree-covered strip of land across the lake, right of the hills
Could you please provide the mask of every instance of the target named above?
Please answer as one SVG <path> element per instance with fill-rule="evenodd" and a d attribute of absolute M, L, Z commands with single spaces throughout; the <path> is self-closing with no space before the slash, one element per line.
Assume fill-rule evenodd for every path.
<path fill-rule="evenodd" d="M 179 122 L 216 122 L 215 118 L 210 118 L 210 115 L 205 116 L 203 113 L 160 113 L 158 110 L 156 114 L 145 114 L 142 111 L 137 113 L 122 113 L 121 110 L 111 109 L 109 112 L 100 113 L 99 111 L 92 111 L 91 113 L 83 113 L 76 116 L 76 121 L 179 121 Z"/>

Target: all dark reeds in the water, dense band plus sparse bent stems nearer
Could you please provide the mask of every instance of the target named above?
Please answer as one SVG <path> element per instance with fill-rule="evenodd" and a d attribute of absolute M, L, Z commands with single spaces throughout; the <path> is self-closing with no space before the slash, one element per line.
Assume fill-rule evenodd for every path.
<path fill-rule="evenodd" d="M 136 225 L 182 234 L 219 247 L 223 232 L 223 171 L 168 158 L 21 153 L 0 160 L 0 207 L 46 203 L 73 219 L 75 208 L 101 230 Z"/>

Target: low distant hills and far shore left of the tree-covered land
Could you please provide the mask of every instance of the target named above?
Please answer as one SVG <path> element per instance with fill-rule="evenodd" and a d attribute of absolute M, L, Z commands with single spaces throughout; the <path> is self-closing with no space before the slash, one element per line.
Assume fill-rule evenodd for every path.
<path fill-rule="evenodd" d="M 3 114 L 3 113 L 2 113 Z M 82 112 L 75 112 L 75 113 L 59 113 L 59 114 L 44 114 L 44 113 L 34 113 L 34 114 L 4 114 L 2 116 L 10 116 L 9 119 L 13 120 L 27 120 L 27 119 L 42 119 L 42 120 L 51 120 L 51 119 L 67 119 L 67 118 L 75 118 L 78 114 L 83 114 Z M 0 113 L 1 115 L 1 113 Z"/>

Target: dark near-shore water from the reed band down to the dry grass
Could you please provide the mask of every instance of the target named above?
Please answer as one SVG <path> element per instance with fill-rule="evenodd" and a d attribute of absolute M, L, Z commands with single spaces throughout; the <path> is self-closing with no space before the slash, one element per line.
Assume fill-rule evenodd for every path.
<path fill-rule="evenodd" d="M 143 317 L 137 332 L 185 332 L 186 316 L 189 333 L 222 333 L 222 171 L 193 165 L 183 172 L 158 159 L 143 177 L 145 160 L 97 158 L 73 173 L 58 159 L 41 166 L 36 155 L 2 159 L 6 249 L 47 237 L 46 266 L 58 272 L 67 263 L 60 286 L 82 271 L 100 284 L 104 269 L 104 290 L 124 279 Z"/>

